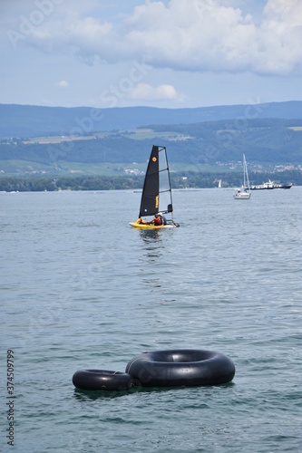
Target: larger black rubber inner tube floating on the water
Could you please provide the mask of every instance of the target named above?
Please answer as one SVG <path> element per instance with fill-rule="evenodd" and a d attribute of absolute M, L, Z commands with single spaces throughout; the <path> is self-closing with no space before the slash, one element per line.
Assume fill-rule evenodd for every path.
<path fill-rule="evenodd" d="M 219 352 L 184 349 L 142 352 L 126 373 L 142 387 L 217 385 L 232 381 L 235 366 Z"/>

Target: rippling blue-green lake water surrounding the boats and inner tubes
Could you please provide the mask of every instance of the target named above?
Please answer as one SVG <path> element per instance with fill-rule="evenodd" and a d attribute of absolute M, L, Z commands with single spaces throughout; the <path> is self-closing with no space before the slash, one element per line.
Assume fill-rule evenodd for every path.
<path fill-rule="evenodd" d="M 176 190 L 180 228 L 140 231 L 132 191 L 0 194 L 1 451 L 302 451 L 302 188 L 232 195 Z M 234 380 L 73 387 L 178 348 L 228 355 Z"/>

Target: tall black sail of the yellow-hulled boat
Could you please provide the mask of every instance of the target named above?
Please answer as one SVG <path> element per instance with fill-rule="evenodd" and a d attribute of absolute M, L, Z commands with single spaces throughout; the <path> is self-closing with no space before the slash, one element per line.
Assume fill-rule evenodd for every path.
<path fill-rule="evenodd" d="M 154 216 L 159 212 L 159 195 L 159 147 L 153 146 L 142 188 L 139 217 Z"/>

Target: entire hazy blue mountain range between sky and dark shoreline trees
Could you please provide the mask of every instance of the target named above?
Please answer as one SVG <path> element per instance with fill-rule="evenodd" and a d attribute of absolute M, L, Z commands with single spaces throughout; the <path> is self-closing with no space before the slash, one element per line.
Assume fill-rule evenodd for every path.
<path fill-rule="evenodd" d="M 243 152 L 251 178 L 301 172 L 302 101 L 177 110 L 0 105 L 0 114 L 1 177 L 141 176 L 153 144 L 167 146 L 170 169 L 184 177 L 241 172 Z"/>

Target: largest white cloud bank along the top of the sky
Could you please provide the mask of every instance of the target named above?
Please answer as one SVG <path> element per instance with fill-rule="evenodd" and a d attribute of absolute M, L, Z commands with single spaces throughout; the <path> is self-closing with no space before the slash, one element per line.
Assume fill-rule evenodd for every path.
<path fill-rule="evenodd" d="M 64 0 L 15 44 L 69 53 L 88 64 L 136 59 L 190 72 L 301 73 L 300 0 L 268 0 L 257 23 L 235 0 L 146 0 L 114 23 L 93 15 L 89 8 L 96 4 L 84 11 Z"/>

